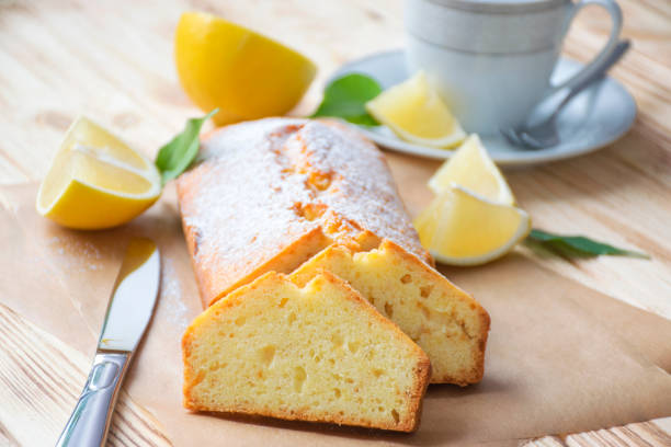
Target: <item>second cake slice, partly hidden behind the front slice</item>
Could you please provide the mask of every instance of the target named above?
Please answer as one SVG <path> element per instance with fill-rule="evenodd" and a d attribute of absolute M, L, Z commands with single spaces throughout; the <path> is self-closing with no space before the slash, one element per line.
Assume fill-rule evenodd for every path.
<path fill-rule="evenodd" d="M 437 271 L 383 240 L 361 252 L 352 244 L 331 245 L 289 277 L 302 286 L 325 271 L 350 283 L 424 349 L 431 382 L 466 386 L 482 379 L 489 314 Z"/>

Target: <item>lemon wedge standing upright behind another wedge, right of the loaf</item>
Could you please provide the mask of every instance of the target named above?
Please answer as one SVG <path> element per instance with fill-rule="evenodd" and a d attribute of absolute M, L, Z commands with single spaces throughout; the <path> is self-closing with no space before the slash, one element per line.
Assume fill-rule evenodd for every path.
<path fill-rule="evenodd" d="M 515 203 L 508 182 L 475 134 L 439 168 L 429 180 L 429 187 L 440 194 L 453 183 L 500 204 Z"/>

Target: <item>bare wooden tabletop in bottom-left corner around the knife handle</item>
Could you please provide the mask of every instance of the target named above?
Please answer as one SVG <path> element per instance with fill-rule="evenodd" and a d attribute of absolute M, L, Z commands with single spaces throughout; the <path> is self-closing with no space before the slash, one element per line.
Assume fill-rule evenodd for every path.
<path fill-rule="evenodd" d="M 0 445 L 49 446 L 91 367 L 81 353 L 0 305 Z M 158 421 L 122 391 L 110 446 L 170 446 Z"/>

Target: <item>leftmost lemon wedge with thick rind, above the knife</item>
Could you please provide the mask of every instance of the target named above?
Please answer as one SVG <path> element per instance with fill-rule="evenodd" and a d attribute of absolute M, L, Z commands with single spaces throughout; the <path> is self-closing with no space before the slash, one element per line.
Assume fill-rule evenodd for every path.
<path fill-rule="evenodd" d="M 67 131 L 37 193 L 37 211 L 68 228 L 102 229 L 133 219 L 161 194 L 156 167 L 86 117 Z"/>

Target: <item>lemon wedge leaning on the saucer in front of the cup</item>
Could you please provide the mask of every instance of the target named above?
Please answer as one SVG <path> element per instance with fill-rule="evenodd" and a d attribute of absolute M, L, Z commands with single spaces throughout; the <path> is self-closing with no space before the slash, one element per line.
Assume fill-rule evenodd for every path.
<path fill-rule="evenodd" d="M 368 101 L 366 110 L 399 138 L 417 145 L 447 149 L 466 138 L 423 71 Z"/>

